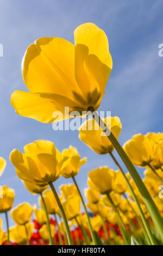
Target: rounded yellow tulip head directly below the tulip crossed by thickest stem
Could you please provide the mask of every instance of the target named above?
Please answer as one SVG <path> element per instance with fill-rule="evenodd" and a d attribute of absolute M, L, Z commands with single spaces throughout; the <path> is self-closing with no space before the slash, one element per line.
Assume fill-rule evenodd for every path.
<path fill-rule="evenodd" d="M 106 166 L 99 167 L 88 173 L 89 178 L 87 183 L 92 189 L 97 190 L 102 194 L 106 194 L 112 190 L 111 185 L 114 175 L 114 170 L 111 170 Z"/>

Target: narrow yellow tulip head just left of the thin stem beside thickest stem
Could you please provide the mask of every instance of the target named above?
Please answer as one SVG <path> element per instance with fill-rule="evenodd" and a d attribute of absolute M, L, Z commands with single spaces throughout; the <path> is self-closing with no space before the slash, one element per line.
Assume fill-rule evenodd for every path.
<path fill-rule="evenodd" d="M 126 180 L 123 178 L 121 171 L 117 170 L 112 180 L 112 190 L 116 193 L 123 194 L 126 192 L 127 188 Z"/>

